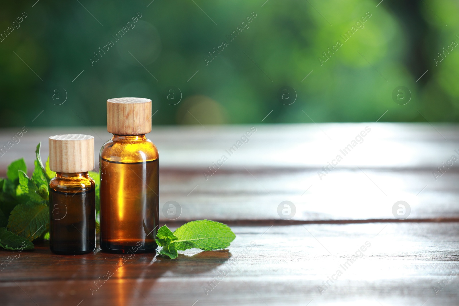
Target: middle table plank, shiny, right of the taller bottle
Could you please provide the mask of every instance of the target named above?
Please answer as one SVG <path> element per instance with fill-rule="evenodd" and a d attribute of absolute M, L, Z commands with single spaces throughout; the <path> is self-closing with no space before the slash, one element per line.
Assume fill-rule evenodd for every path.
<path fill-rule="evenodd" d="M 404 200 L 411 219 L 458 218 L 458 180 L 456 172 L 435 181 L 427 171 L 357 169 L 323 180 L 313 171 L 222 171 L 206 181 L 199 172 L 161 171 L 160 217 L 174 218 L 162 207 L 176 201 L 182 221 L 280 220 L 278 206 L 289 200 L 296 207 L 292 220 L 395 219 L 392 206 Z"/>

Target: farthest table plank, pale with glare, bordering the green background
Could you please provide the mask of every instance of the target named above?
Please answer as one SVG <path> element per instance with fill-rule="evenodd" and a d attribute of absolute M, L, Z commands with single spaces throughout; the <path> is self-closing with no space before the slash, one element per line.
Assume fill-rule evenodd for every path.
<path fill-rule="evenodd" d="M 83 123 L 82 123 L 83 124 Z M 249 131 L 251 125 L 223 126 L 154 126 L 147 135 L 158 147 L 161 166 L 204 171 L 222 155 L 228 161 L 224 169 L 289 168 L 319 169 L 341 154 L 338 167 L 355 168 L 428 168 L 435 169 L 459 150 L 459 125 L 429 123 L 320 123 L 255 124 L 246 144 L 229 156 L 225 150 Z M 340 150 L 351 144 L 365 127 L 371 131 L 351 153 Z M 6 145 L 21 128 L 2 129 L 0 145 Z M 111 134 L 106 128 L 66 127 L 28 128 L 27 133 L 0 158 L 0 170 L 14 159 L 25 156 L 33 165 L 34 148 L 42 142 L 43 156 L 48 155 L 48 137 L 55 134 L 90 134 L 95 137 L 95 153 Z M 217 140 L 216 140 L 217 139 Z M 330 140 L 331 139 L 331 140 Z M 448 140 L 446 140 L 448 139 Z M 360 141 L 360 140 L 359 140 Z M 457 168 L 457 165 L 453 166 Z M 432 170 L 431 170 L 432 171 Z"/>

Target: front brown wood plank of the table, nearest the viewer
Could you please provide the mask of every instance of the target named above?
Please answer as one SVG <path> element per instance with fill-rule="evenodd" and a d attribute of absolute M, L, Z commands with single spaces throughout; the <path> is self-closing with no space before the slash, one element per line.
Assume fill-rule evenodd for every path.
<path fill-rule="evenodd" d="M 459 223 L 232 228 L 236 239 L 229 250 L 190 250 L 174 261 L 138 254 L 121 265 L 120 255 L 56 256 L 46 245 L 23 251 L 0 273 L 2 304 L 421 305 L 428 300 L 425 305 L 457 305 L 459 300 L 458 278 L 450 277 L 459 272 Z M 349 263 L 365 243 L 371 245 L 363 256 Z M 0 251 L 0 258 L 10 255 Z M 91 295 L 94 281 L 109 270 L 113 276 Z M 323 282 L 337 270 L 342 275 L 320 294 L 318 287 L 325 289 Z M 206 295 L 214 278 L 220 281 L 207 287 Z M 442 281 L 444 289 L 436 292 Z"/>

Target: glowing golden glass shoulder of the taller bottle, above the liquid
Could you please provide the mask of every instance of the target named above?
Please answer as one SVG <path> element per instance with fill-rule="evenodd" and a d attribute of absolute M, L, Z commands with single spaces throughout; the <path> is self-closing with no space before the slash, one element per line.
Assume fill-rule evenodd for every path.
<path fill-rule="evenodd" d="M 101 148 L 102 160 L 117 162 L 154 161 L 158 159 L 156 145 L 150 139 L 135 141 L 108 140 Z"/>

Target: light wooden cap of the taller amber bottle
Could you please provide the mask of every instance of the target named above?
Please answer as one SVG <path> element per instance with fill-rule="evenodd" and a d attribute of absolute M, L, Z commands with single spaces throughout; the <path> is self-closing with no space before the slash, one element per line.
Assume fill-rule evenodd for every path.
<path fill-rule="evenodd" d="M 107 131 L 118 135 L 151 132 L 151 100 L 115 98 L 107 100 Z"/>

